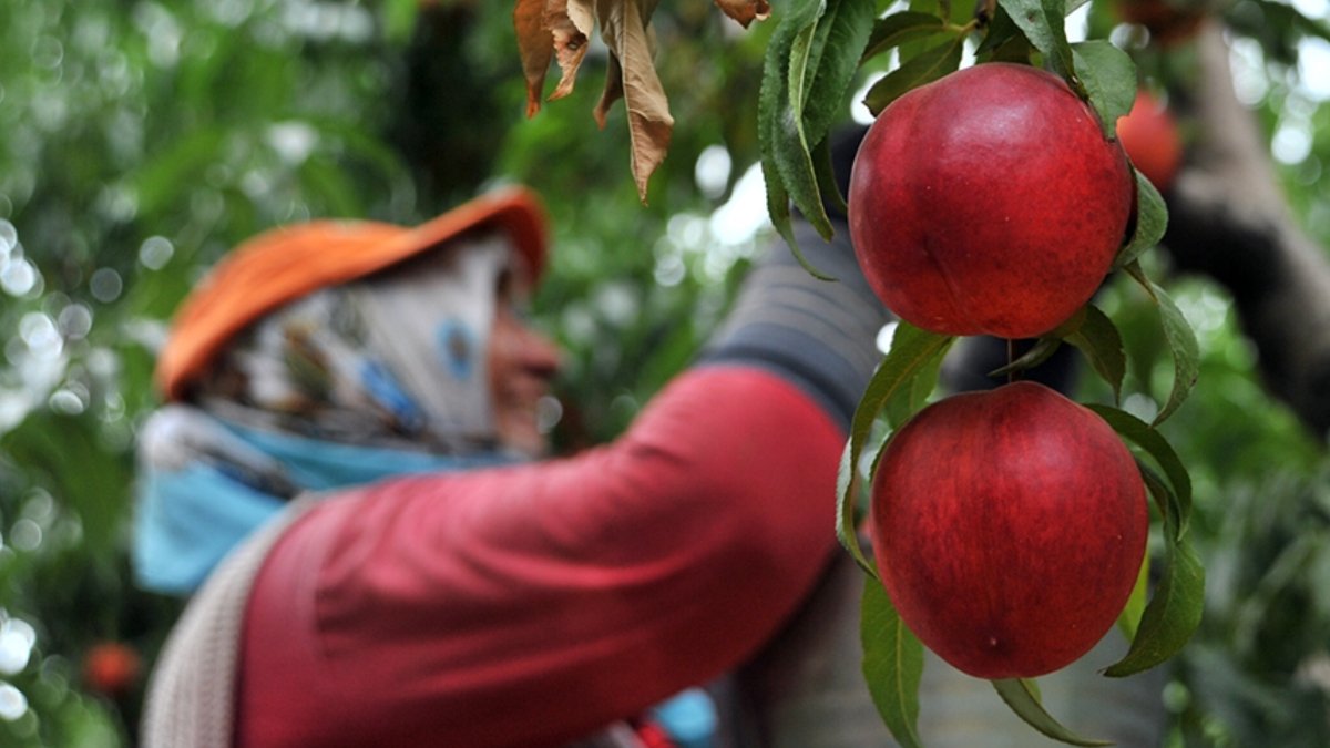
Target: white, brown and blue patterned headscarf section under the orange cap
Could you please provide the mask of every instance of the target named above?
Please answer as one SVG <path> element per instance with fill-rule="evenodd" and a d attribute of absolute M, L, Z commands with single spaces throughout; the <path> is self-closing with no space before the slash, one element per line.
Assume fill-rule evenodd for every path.
<path fill-rule="evenodd" d="M 306 295 L 237 335 L 197 402 L 338 443 L 493 450 L 485 350 L 511 261 L 500 236 L 481 236 Z"/>

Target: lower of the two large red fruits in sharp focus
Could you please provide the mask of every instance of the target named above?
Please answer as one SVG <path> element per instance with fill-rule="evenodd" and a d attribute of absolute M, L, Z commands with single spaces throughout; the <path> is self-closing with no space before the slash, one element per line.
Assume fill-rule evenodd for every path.
<path fill-rule="evenodd" d="M 883 584 L 930 650 L 976 677 L 1035 677 L 1113 626 L 1149 512 L 1108 423 L 1016 382 L 934 403 L 896 433 L 871 531 Z"/>

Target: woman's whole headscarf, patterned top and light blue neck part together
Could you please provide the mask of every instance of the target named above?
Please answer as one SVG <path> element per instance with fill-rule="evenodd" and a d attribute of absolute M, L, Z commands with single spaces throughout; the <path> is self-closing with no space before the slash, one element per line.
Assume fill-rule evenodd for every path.
<path fill-rule="evenodd" d="M 512 262 L 467 237 L 261 317 L 140 434 L 134 571 L 192 592 L 305 492 L 520 459 L 497 442 L 485 351 Z"/>

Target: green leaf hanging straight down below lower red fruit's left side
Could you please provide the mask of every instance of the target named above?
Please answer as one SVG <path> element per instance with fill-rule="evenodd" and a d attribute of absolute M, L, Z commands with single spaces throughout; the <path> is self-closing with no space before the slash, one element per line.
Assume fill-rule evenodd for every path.
<path fill-rule="evenodd" d="M 891 598 L 876 579 L 863 580 L 859 607 L 863 677 L 868 683 L 883 724 L 903 748 L 919 748 L 919 681 L 923 644 L 896 615 Z"/>

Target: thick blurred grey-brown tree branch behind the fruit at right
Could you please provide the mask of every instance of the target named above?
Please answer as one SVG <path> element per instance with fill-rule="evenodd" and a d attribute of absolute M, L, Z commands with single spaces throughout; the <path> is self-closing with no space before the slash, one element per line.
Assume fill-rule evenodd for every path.
<path fill-rule="evenodd" d="M 1238 101 L 1217 23 L 1197 37 L 1198 79 L 1182 105 L 1200 137 L 1165 196 L 1164 245 L 1180 270 L 1232 294 L 1266 386 L 1318 438 L 1330 430 L 1330 262 L 1297 225 L 1267 141 Z"/>

